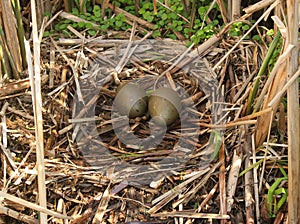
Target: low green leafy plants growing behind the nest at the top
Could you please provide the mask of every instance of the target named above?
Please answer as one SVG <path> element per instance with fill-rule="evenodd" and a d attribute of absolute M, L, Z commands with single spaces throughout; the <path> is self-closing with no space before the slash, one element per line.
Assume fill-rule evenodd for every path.
<path fill-rule="evenodd" d="M 79 3 L 74 0 L 75 7 L 71 13 L 84 21 L 73 22 L 68 19 L 61 19 L 52 30 L 44 33 L 49 36 L 59 33 L 66 37 L 72 37 L 73 33 L 68 27 L 72 27 L 79 32 L 85 32 L 89 36 L 106 34 L 108 30 L 126 31 L 131 29 L 124 14 L 115 14 L 112 9 L 101 9 L 100 5 L 92 4 L 93 1 L 85 0 Z M 156 5 L 152 1 L 141 0 L 140 8 L 135 5 L 134 0 L 115 0 L 112 2 L 115 7 L 119 7 L 126 12 L 143 19 L 153 25 L 153 38 L 184 39 L 187 44 L 199 44 L 218 33 L 224 22 L 217 3 L 208 0 L 190 0 L 190 5 L 185 7 L 181 0 L 157 0 Z M 235 22 L 229 29 L 228 34 L 232 37 L 240 37 L 247 32 L 254 21 Z M 273 30 L 267 35 L 273 35 Z M 246 39 L 253 39 L 261 42 L 261 36 L 252 32 Z"/>

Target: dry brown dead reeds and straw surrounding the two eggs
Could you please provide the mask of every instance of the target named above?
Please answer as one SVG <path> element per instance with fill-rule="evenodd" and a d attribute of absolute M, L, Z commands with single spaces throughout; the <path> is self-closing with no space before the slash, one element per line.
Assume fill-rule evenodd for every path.
<path fill-rule="evenodd" d="M 299 197 L 290 188 L 299 186 L 298 89 L 289 90 L 288 108 L 297 106 L 289 116 L 282 97 L 298 85 L 299 70 L 287 69 L 298 42 L 287 38 L 279 1 L 233 14 L 245 20 L 264 9 L 251 32 L 274 8 L 283 43 L 273 40 L 280 56 L 269 75 L 263 65 L 271 41 L 230 37 L 231 24 L 186 48 L 149 40 L 151 25 L 135 17 L 127 17 L 129 32 L 86 38 L 71 29 L 77 39 L 40 42 L 33 16 L 28 69 L 10 49 L 11 71 L 0 76 L 2 222 L 287 223 L 289 216 L 296 223 L 299 202 L 289 199 L 294 207 L 287 212 L 287 190 Z M 44 27 L 57 16 L 80 19 L 59 12 Z M 2 37 L 2 48 L 11 45 Z M 157 144 L 151 135 L 160 130 L 151 129 L 149 117 L 114 114 L 115 90 L 124 81 L 182 94 L 180 119 Z M 296 140 L 288 145 L 291 133 Z M 120 140 L 132 134 L 134 141 Z"/>

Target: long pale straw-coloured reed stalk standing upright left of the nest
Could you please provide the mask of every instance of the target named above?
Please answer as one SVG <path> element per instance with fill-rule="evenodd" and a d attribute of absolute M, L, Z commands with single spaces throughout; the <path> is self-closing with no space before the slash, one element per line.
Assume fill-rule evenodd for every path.
<path fill-rule="evenodd" d="M 26 51 L 28 60 L 28 73 L 30 77 L 32 103 L 35 122 L 35 138 L 36 138 L 36 168 L 38 173 L 38 198 L 41 207 L 47 209 L 47 195 L 45 185 L 45 166 L 44 166 L 44 136 L 43 136 L 43 116 L 42 116 L 42 93 L 41 93 L 41 73 L 40 73 L 40 41 L 36 20 L 35 0 L 31 0 L 32 13 L 32 36 L 33 36 L 33 64 L 31 61 L 31 53 L 29 42 L 26 41 Z M 47 215 L 40 214 L 40 223 L 47 223 Z"/>

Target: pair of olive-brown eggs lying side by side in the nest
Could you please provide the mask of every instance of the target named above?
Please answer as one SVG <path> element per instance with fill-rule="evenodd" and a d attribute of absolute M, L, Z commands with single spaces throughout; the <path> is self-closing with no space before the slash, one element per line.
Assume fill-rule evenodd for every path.
<path fill-rule="evenodd" d="M 159 88 L 148 97 L 145 90 L 135 83 L 121 84 L 114 103 L 122 115 L 135 118 L 148 111 L 156 124 L 167 126 L 179 117 L 181 110 L 181 100 L 171 88 Z"/>

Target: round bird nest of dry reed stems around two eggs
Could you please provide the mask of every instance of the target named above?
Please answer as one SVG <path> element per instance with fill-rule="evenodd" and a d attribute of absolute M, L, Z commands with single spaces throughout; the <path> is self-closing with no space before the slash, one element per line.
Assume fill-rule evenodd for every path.
<path fill-rule="evenodd" d="M 205 58 L 177 41 L 139 40 L 102 52 L 82 73 L 75 80 L 72 137 L 94 169 L 104 175 L 113 170 L 116 181 L 149 185 L 187 167 L 205 168 L 215 159 L 223 97 Z M 182 105 L 179 118 L 162 128 L 147 114 L 119 114 L 114 99 L 124 82 L 146 92 L 175 90 Z"/>

